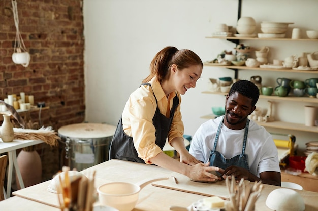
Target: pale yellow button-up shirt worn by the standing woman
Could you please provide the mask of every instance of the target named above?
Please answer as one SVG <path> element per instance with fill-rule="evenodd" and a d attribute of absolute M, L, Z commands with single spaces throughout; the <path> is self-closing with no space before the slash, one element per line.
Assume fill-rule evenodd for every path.
<path fill-rule="evenodd" d="M 155 128 L 152 118 L 157 106 L 160 112 L 169 118 L 176 91 L 170 93 L 167 98 L 156 77 L 152 78 L 149 83 L 152 89 L 148 85 L 143 85 L 130 95 L 122 113 L 122 128 L 127 135 L 133 137 L 138 156 L 145 160 L 145 163 L 152 164 L 149 159 L 162 152 L 161 148 L 155 144 Z M 175 137 L 183 137 L 184 132 L 180 112 L 180 94 L 178 96 L 179 105 L 175 110 L 168 133 L 169 143 Z"/>

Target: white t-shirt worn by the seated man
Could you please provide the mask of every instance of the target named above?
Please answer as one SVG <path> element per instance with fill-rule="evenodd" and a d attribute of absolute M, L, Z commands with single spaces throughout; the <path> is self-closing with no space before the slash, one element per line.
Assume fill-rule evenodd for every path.
<path fill-rule="evenodd" d="M 203 123 L 196 131 L 189 152 L 196 159 L 208 162 L 213 150 L 218 125 L 223 119 L 220 116 Z M 242 153 L 245 128 L 231 130 L 224 124 L 221 126 L 216 151 L 230 159 Z M 261 172 L 280 172 L 278 151 L 274 140 L 263 126 L 250 120 L 245 153 L 248 155 L 248 166 L 252 174 L 260 176 Z"/>

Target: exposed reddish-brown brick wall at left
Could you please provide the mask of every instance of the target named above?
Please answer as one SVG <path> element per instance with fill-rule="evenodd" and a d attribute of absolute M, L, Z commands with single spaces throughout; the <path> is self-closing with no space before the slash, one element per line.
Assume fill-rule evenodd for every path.
<path fill-rule="evenodd" d="M 34 95 L 44 101 L 44 126 L 55 131 L 84 121 L 83 13 L 81 0 L 16 0 L 19 29 L 31 55 L 28 67 L 14 64 L 16 27 L 11 0 L 0 1 L 0 99 L 10 94 Z M 39 121 L 39 113 L 31 113 Z M 63 146 L 60 146 L 62 148 Z M 41 148 L 40 148 L 41 150 Z M 43 151 L 43 150 L 42 150 Z M 43 181 L 58 170 L 58 148 L 46 146 Z M 45 156 L 43 156 L 43 154 Z"/>

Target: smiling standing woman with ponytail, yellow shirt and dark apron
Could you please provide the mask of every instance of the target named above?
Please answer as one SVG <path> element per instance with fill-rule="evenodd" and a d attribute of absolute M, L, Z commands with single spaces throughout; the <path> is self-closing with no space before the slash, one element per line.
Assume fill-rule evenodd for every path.
<path fill-rule="evenodd" d="M 218 167 L 195 159 L 183 140 L 180 95 L 196 87 L 202 68 L 200 57 L 193 51 L 166 47 L 158 52 L 151 61 L 149 76 L 126 102 L 109 159 L 155 164 L 192 180 L 218 180 L 209 172 L 218 171 Z M 180 162 L 163 153 L 167 138 L 180 154 Z"/>

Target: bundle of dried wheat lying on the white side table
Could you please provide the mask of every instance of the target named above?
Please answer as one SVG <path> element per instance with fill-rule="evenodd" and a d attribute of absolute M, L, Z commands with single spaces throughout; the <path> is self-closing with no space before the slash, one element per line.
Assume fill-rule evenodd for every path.
<path fill-rule="evenodd" d="M 52 130 L 52 127 L 34 129 L 13 128 L 14 138 L 22 140 L 42 140 L 50 146 L 57 146 L 60 137 Z"/>

